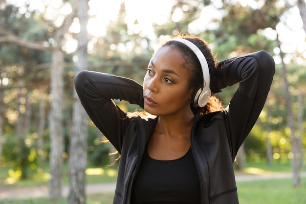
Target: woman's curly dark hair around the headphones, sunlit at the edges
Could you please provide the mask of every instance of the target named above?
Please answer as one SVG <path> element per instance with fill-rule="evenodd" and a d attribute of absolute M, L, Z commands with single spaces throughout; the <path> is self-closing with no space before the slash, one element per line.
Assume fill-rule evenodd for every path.
<path fill-rule="evenodd" d="M 215 63 L 215 58 L 211 52 L 210 47 L 208 44 L 200 39 L 197 36 L 190 36 L 190 35 L 178 35 L 175 38 L 184 38 L 193 44 L 195 44 L 203 53 L 206 58 L 209 73 L 210 73 L 210 89 L 212 91 L 212 96 L 208 101 L 207 105 L 203 108 L 195 106 L 191 104 L 191 110 L 195 115 L 197 114 L 205 114 L 205 113 L 212 113 L 216 111 L 220 111 L 223 109 L 223 106 L 219 99 L 216 97 L 215 93 L 219 92 L 217 88 L 214 86 L 215 81 L 217 80 L 217 73 L 220 69 L 219 66 Z M 185 60 L 184 67 L 192 71 L 192 77 L 189 82 L 189 88 L 193 90 L 197 90 L 200 87 L 203 87 L 203 72 L 200 65 L 200 62 L 197 59 L 196 54 L 187 46 L 177 41 L 166 41 L 160 45 L 163 46 L 175 46 L 178 48 L 183 54 L 183 58 Z"/>

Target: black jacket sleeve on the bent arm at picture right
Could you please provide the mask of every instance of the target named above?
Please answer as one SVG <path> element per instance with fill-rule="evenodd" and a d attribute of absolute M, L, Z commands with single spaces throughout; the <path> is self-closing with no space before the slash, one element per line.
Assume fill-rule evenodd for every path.
<path fill-rule="evenodd" d="M 273 57 L 265 52 L 230 58 L 220 62 L 218 88 L 239 82 L 239 88 L 224 110 L 232 158 L 253 128 L 262 111 L 275 73 Z"/>

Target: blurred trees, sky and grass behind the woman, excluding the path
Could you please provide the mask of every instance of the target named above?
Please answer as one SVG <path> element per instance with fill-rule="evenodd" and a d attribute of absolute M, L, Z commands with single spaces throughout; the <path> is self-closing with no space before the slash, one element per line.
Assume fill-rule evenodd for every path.
<path fill-rule="evenodd" d="M 112 203 L 85 196 L 86 184 L 116 180 L 119 155 L 80 105 L 74 76 L 93 70 L 142 84 L 156 44 L 178 33 L 203 38 L 219 61 L 274 57 L 271 91 L 234 168 L 290 176 L 238 181 L 240 203 L 306 203 L 305 30 L 305 0 L 0 0 L 0 192 L 49 186 L 44 201 L 0 203 Z M 224 106 L 236 89 L 217 95 Z"/>

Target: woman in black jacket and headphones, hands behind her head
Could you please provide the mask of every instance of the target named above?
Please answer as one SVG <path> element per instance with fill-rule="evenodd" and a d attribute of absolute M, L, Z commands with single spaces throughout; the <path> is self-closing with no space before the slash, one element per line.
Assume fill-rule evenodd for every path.
<path fill-rule="evenodd" d="M 203 40 L 180 36 L 154 53 L 143 87 L 110 74 L 78 73 L 75 87 L 85 110 L 121 155 L 113 203 L 238 204 L 233 161 L 274 72 L 267 52 L 215 65 Z M 214 93 L 236 83 L 221 110 Z M 128 117 L 112 99 L 157 117 Z"/>

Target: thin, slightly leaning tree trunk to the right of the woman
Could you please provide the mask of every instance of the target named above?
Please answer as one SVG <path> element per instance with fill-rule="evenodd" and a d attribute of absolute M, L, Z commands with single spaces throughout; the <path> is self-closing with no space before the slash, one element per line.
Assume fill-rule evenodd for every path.
<path fill-rule="evenodd" d="M 281 44 L 279 39 L 277 38 L 279 47 L 281 48 Z M 292 102 L 291 102 L 291 97 L 290 97 L 290 92 L 288 90 L 289 85 L 288 81 L 286 78 L 286 66 L 284 64 L 284 54 L 281 51 L 280 52 L 281 59 L 282 59 L 282 68 L 283 68 L 283 73 L 282 73 L 282 78 L 284 80 L 284 93 L 285 93 L 285 101 L 287 105 L 287 126 L 290 129 L 290 136 L 291 136 L 291 151 L 293 153 L 293 158 L 292 158 L 292 169 L 293 169 L 293 187 L 298 187 L 300 186 L 300 171 L 299 171 L 299 164 L 298 164 L 298 148 L 299 148 L 299 143 L 298 139 L 295 136 L 295 130 L 294 130 L 294 122 L 293 122 L 293 112 L 292 112 Z"/>

